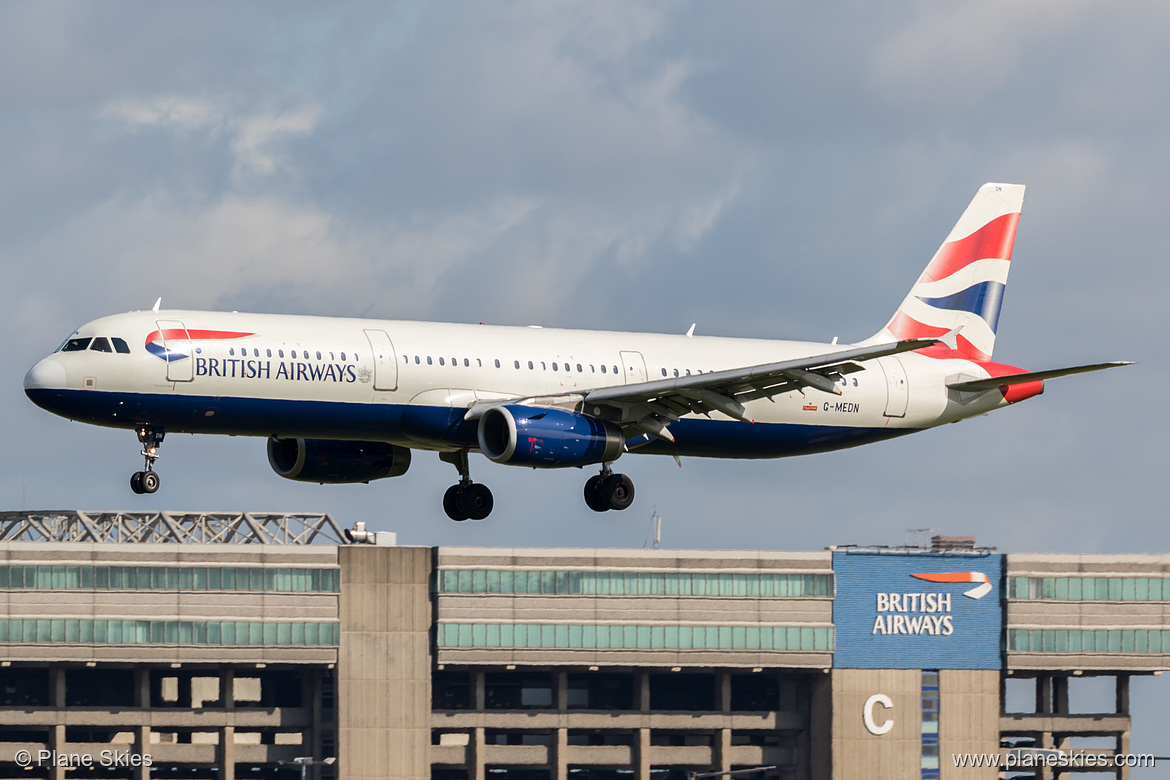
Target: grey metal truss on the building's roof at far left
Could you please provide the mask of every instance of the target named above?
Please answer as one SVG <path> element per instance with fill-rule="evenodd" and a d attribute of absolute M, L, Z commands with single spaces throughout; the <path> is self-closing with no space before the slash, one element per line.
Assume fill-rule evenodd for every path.
<path fill-rule="evenodd" d="M 329 515 L 287 512 L 0 512 L 0 541 L 346 544 Z"/>

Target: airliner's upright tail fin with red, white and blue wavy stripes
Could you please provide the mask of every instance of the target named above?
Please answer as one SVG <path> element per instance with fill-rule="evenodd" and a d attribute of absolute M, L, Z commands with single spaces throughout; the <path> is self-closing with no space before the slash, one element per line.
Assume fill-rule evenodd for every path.
<path fill-rule="evenodd" d="M 1024 185 L 985 184 L 882 330 L 867 341 L 928 338 L 955 327 L 959 354 L 990 360 L 1024 206 Z"/>

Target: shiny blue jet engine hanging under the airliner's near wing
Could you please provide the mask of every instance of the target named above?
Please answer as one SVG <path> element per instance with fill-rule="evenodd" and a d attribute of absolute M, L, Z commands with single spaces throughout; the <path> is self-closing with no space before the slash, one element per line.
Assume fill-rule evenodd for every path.
<path fill-rule="evenodd" d="M 613 423 L 576 412 L 494 406 L 480 417 L 480 449 L 496 463 L 557 469 L 617 460 L 625 437 Z"/>

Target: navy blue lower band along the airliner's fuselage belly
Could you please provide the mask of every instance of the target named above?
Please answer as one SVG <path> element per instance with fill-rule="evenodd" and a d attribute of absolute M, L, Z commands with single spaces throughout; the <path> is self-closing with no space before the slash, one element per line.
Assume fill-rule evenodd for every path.
<path fill-rule="evenodd" d="M 73 389 L 26 389 L 37 406 L 70 420 L 111 428 L 158 426 L 168 433 L 384 441 L 402 446 L 479 447 L 477 422 L 463 409 L 397 403 L 160 395 Z M 635 453 L 693 457 L 785 457 L 856 447 L 914 433 L 907 428 L 849 428 L 683 419 L 670 424 L 675 443 L 652 441 Z"/>

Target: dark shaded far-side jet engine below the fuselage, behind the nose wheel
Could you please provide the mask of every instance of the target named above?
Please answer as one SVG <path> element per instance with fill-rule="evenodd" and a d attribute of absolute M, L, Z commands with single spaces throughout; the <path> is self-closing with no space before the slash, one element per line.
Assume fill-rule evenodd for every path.
<path fill-rule="evenodd" d="M 384 442 L 271 436 L 268 463 L 273 471 L 296 482 L 370 482 L 406 474 L 411 468 L 411 450 Z"/>

